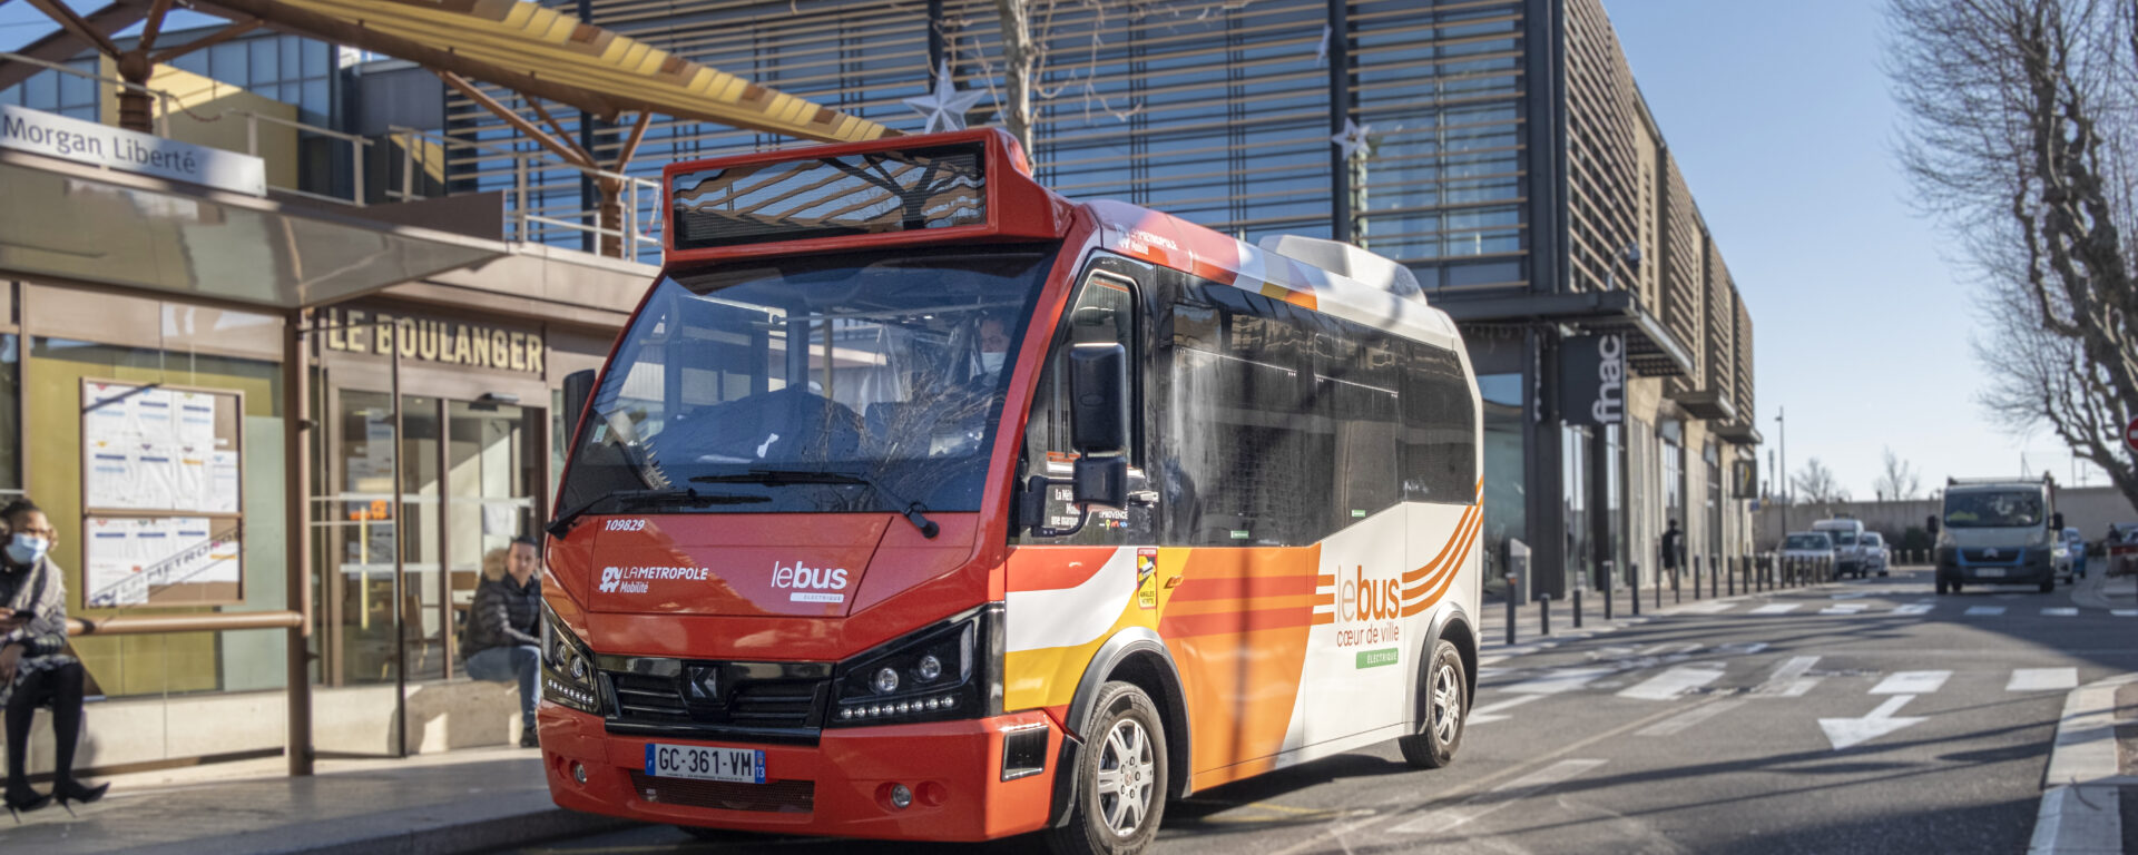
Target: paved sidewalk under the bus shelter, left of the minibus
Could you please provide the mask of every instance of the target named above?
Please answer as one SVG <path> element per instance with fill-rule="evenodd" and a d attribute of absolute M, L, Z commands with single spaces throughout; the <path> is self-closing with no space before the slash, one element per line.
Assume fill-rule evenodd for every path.
<path fill-rule="evenodd" d="M 321 761 L 312 778 L 280 757 L 100 778 L 111 795 L 47 806 L 15 825 L 0 812 L 0 851 L 73 853 L 464 853 L 624 825 L 549 804 L 528 748 Z"/>

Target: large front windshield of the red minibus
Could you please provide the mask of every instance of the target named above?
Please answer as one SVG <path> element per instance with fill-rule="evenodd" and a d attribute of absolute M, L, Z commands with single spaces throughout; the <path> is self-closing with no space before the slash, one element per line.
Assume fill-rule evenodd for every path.
<path fill-rule="evenodd" d="M 936 248 L 663 278 L 603 372 L 558 507 L 977 511 L 1052 256 Z"/>

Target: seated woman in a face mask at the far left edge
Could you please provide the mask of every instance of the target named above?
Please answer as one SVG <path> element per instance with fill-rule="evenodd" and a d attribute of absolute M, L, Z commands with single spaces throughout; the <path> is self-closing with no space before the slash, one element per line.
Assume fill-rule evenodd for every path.
<path fill-rule="evenodd" d="M 75 746 L 81 742 L 81 684 L 86 673 L 66 654 L 66 584 L 47 558 L 51 519 L 34 502 L 17 498 L 0 509 L 6 549 L 0 549 L 0 708 L 6 708 L 6 808 L 43 808 L 53 797 L 90 804 L 111 784 L 83 787 L 75 780 Z M 30 720 L 36 708 L 51 710 L 51 793 L 30 789 Z M 68 808 L 73 810 L 73 808 Z M 17 817 L 19 821 L 19 817 Z"/>

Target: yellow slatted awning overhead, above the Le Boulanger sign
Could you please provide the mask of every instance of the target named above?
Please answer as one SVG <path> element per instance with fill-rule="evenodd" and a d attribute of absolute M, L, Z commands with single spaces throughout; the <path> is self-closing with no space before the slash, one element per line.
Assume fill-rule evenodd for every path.
<path fill-rule="evenodd" d="M 646 111 L 817 141 L 898 135 L 517 0 L 207 0 L 197 9 L 458 73 L 614 120 Z"/>

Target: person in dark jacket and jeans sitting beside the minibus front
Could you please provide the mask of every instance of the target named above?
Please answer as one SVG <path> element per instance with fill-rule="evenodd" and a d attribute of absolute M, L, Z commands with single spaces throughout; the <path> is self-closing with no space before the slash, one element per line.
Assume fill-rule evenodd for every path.
<path fill-rule="evenodd" d="M 475 586 L 475 607 L 468 609 L 468 678 L 487 682 L 520 682 L 520 748 L 539 746 L 534 737 L 534 684 L 541 671 L 541 579 L 534 569 L 541 551 L 534 539 L 522 537 L 505 549 L 502 562 L 483 562 L 483 581 Z"/>

